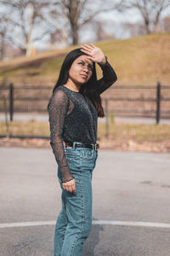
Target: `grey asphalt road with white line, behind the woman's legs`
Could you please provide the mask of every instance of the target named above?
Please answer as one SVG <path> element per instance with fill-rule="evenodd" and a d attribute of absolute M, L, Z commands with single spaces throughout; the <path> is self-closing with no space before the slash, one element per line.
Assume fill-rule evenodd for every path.
<path fill-rule="evenodd" d="M 0 148 L 0 255 L 53 256 L 60 210 L 50 149 Z M 99 150 L 82 256 L 170 255 L 170 154 Z"/>

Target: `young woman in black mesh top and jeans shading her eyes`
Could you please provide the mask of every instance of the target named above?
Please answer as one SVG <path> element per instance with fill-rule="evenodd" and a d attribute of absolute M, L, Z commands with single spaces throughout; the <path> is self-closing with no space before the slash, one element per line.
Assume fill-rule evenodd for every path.
<path fill-rule="evenodd" d="M 95 62 L 103 71 L 97 80 Z M 116 82 L 101 49 L 82 44 L 66 55 L 48 102 L 50 144 L 58 163 L 62 209 L 55 226 L 54 256 L 81 256 L 92 224 L 92 174 L 98 158 L 100 94 Z"/>

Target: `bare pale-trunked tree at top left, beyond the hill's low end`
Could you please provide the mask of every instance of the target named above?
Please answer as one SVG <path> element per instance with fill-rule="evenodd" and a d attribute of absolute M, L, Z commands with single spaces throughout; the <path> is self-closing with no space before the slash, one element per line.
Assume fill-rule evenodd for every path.
<path fill-rule="evenodd" d="M 18 46 L 23 53 L 30 55 L 31 44 L 54 30 L 54 26 L 50 26 L 48 17 L 51 2 L 48 0 L 2 0 L 1 2 L 6 9 L 13 11 L 8 26 L 8 40 Z"/>

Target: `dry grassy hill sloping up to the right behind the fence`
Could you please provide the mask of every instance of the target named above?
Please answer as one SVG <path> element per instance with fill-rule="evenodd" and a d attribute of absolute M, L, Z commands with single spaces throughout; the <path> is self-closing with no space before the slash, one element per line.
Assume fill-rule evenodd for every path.
<path fill-rule="evenodd" d="M 118 80 L 116 84 L 170 84 L 170 32 L 94 42 L 108 56 Z M 65 55 L 80 45 L 0 61 L 0 83 L 54 85 Z M 98 78 L 101 70 L 96 64 Z"/>

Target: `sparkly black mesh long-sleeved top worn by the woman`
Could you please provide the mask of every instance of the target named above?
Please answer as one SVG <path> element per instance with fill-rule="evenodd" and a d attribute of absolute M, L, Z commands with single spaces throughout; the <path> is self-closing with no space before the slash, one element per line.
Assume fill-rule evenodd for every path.
<path fill-rule="evenodd" d="M 97 81 L 97 92 L 101 94 L 116 82 L 116 73 L 106 60 L 99 64 L 103 78 Z M 85 101 L 81 92 L 59 85 L 48 103 L 48 121 L 50 126 L 50 145 L 61 171 L 62 182 L 73 177 L 65 157 L 65 142 L 96 143 L 98 113 L 88 98 Z"/>

